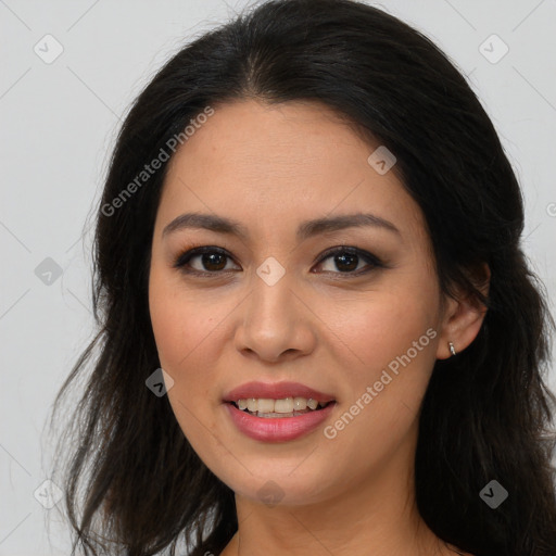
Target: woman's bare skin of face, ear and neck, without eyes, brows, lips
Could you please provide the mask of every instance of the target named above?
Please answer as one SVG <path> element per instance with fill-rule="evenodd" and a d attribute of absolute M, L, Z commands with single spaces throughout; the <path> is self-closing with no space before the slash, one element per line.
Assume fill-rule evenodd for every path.
<path fill-rule="evenodd" d="M 380 175 L 369 165 L 376 147 L 317 103 L 247 100 L 215 106 L 170 161 L 152 242 L 151 319 L 161 366 L 174 380 L 176 419 L 236 493 L 239 531 L 226 556 L 356 556 L 370 546 L 374 556 L 456 554 L 415 506 L 418 412 L 434 361 L 451 356 L 448 341 L 458 352 L 469 345 L 484 312 L 451 298 L 441 304 L 422 214 L 393 169 Z M 237 219 L 250 237 L 205 229 L 163 237 L 186 212 Z M 302 220 L 356 212 L 388 219 L 400 233 L 361 227 L 295 239 Z M 201 245 L 229 257 L 211 267 L 193 256 L 189 266 L 216 273 L 173 267 Z M 319 263 L 341 245 L 387 266 L 361 257 L 341 266 L 333 255 Z M 286 270 L 274 286 L 256 274 L 270 256 Z M 290 442 L 255 441 L 222 403 L 248 381 L 293 380 L 334 395 L 325 426 L 333 425 L 428 329 L 435 338 L 333 439 L 321 426 Z M 268 481 L 281 496 L 275 505 L 258 494 Z"/>

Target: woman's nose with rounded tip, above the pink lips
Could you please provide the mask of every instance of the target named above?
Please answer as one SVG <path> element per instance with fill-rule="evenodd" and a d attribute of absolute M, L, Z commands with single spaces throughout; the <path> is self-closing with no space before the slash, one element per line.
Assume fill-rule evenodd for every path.
<path fill-rule="evenodd" d="M 278 363 L 314 350 L 316 315 L 288 273 L 273 286 L 254 277 L 252 293 L 241 304 L 243 314 L 236 331 L 236 348 L 244 356 Z"/>

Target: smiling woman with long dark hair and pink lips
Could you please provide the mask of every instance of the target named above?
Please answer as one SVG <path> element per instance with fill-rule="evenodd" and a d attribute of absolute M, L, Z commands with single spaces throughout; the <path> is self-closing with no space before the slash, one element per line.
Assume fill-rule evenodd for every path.
<path fill-rule="evenodd" d="M 74 551 L 555 554 L 522 228 L 480 102 L 393 16 L 270 1 L 184 48 L 118 137 L 56 399 L 93 362 Z"/>

